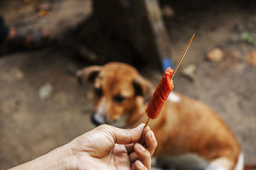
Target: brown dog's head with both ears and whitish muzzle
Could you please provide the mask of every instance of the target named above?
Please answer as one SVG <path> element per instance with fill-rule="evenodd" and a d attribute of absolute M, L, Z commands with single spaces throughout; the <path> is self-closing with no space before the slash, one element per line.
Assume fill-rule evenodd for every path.
<path fill-rule="evenodd" d="M 92 121 L 97 125 L 113 124 L 125 114 L 139 114 L 152 94 L 152 85 L 134 67 L 124 63 L 85 67 L 77 71 L 77 78 L 79 83 L 93 84 Z"/>

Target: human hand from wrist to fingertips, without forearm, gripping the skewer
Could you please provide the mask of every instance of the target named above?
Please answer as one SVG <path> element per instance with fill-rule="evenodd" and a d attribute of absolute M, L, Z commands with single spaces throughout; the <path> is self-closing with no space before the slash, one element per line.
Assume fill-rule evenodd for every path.
<path fill-rule="evenodd" d="M 141 124 L 134 129 L 100 125 L 74 139 L 70 146 L 75 169 L 151 169 L 157 146 L 154 132 Z"/>

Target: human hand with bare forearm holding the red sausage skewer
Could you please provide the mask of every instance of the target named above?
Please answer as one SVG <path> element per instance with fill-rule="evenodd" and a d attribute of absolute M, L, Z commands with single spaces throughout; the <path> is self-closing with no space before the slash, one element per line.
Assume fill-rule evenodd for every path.
<path fill-rule="evenodd" d="M 151 169 L 157 141 L 154 132 L 144 125 L 134 129 L 100 125 L 12 169 Z"/>

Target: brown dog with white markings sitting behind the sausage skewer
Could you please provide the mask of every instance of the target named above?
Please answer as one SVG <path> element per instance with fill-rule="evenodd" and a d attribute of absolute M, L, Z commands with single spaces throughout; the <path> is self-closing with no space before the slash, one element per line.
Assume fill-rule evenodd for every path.
<path fill-rule="evenodd" d="M 145 108 L 154 88 L 134 67 L 118 62 L 77 71 L 79 80 L 93 83 L 95 124 L 113 124 L 127 115 L 126 127 L 145 123 Z M 156 120 L 155 155 L 196 153 L 209 161 L 206 169 L 243 169 L 243 153 L 228 126 L 204 104 L 172 92 Z M 240 154 L 241 153 L 241 154 Z"/>

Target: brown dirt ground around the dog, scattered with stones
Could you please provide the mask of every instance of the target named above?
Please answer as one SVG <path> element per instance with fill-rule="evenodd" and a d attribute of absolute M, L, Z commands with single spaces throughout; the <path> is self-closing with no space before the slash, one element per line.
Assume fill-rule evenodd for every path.
<path fill-rule="evenodd" d="M 34 1 L 2 1 L 9 25 L 45 27 L 57 36 L 86 19 L 91 1 L 52 1 L 49 15 L 36 17 Z M 37 3 L 37 1 L 36 1 Z M 161 1 L 175 11 L 164 17 L 172 39 L 173 61 L 179 59 L 191 34 L 195 40 L 180 70 L 195 64 L 193 81 L 175 75 L 175 91 L 193 97 L 214 109 L 236 135 L 245 162 L 256 164 L 256 67 L 246 61 L 256 39 L 256 3 L 253 1 Z M 225 52 L 220 62 L 205 60 L 207 52 L 219 47 Z M 21 164 L 63 145 L 94 127 L 91 87 L 79 88 L 70 67 L 87 63 L 54 44 L 33 52 L 0 56 L 0 169 Z M 141 74 L 157 85 L 161 73 L 145 68 Z M 51 83 L 49 99 L 40 100 L 38 90 Z"/>

